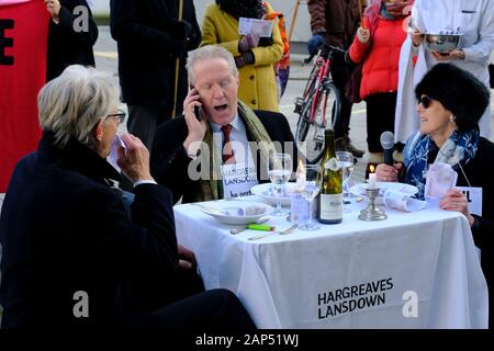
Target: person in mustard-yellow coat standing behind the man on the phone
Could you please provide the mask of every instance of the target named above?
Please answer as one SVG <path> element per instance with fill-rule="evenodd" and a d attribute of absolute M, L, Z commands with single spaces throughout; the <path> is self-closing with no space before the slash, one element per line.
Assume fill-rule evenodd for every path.
<path fill-rule="evenodd" d="M 281 59 L 283 43 L 276 23 L 271 37 L 239 35 L 239 18 L 262 19 L 273 10 L 262 0 L 216 0 L 205 9 L 202 43 L 221 45 L 235 57 L 240 73 L 238 99 L 252 110 L 278 112 L 278 84 L 273 64 Z"/>

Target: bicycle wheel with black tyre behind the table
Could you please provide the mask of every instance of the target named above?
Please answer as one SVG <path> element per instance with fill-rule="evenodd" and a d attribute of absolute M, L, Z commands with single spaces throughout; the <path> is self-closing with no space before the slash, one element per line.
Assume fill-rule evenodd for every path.
<path fill-rule="evenodd" d="M 332 82 L 325 82 L 319 92 L 311 98 L 301 118 L 304 124 L 303 128 L 300 128 L 301 138 L 297 139 L 297 146 L 305 155 L 307 163 L 317 163 L 323 157 L 324 132 L 328 127 L 333 128 L 334 122 L 339 118 L 339 91 Z"/>

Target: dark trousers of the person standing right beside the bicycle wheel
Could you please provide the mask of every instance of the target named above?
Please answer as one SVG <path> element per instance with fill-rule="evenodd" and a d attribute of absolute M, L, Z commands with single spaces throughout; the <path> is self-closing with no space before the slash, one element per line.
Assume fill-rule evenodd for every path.
<path fill-rule="evenodd" d="M 334 53 L 333 61 L 330 66 L 333 82 L 339 90 L 339 98 L 341 101 L 341 110 L 339 113 L 339 118 L 334 124 L 335 137 L 340 138 L 345 135 L 348 135 L 350 131 L 350 115 L 351 115 L 351 106 L 353 105 L 345 97 L 345 87 L 347 86 L 348 80 L 350 79 L 353 67 L 345 61 L 345 57 L 343 54 Z"/>

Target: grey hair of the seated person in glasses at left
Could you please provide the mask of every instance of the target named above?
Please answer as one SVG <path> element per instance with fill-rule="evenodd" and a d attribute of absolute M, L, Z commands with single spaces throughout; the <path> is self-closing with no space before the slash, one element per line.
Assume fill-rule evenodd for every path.
<path fill-rule="evenodd" d="M 111 73 L 80 65 L 67 67 L 40 91 L 40 124 L 55 133 L 55 144 L 64 147 L 70 138 L 92 147 L 91 131 L 98 120 L 117 106 L 120 88 Z"/>

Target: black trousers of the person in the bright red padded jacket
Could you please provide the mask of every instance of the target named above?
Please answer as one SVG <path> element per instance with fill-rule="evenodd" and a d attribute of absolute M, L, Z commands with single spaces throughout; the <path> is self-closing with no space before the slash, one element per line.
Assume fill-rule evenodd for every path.
<path fill-rule="evenodd" d="M 367 103 L 367 145 L 369 152 L 382 152 L 381 134 L 394 133 L 394 112 L 396 92 L 383 92 L 366 98 Z"/>

